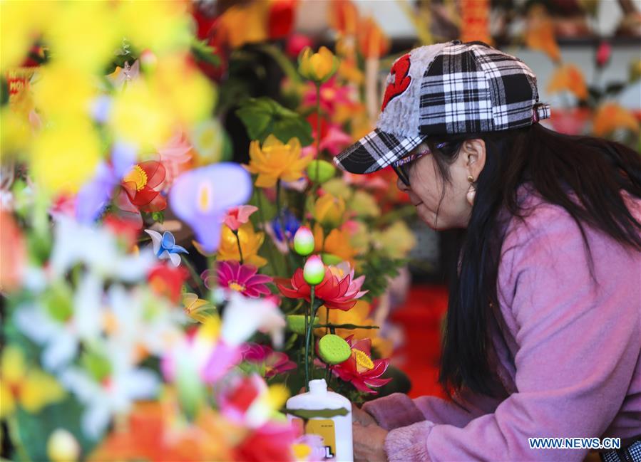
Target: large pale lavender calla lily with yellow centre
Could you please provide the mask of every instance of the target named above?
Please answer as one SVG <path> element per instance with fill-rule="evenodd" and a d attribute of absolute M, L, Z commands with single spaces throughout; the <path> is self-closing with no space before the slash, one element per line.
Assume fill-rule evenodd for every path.
<path fill-rule="evenodd" d="M 244 204 L 251 194 L 252 179 L 245 169 L 221 162 L 181 174 L 170 191 L 169 201 L 176 216 L 194 230 L 204 251 L 213 252 L 220 243 L 221 228 L 223 233 L 227 229 L 227 226 L 221 227 L 225 213 L 230 207 Z M 237 246 L 236 237 L 227 231 L 233 246 Z M 221 244 L 226 245 L 225 238 Z"/>

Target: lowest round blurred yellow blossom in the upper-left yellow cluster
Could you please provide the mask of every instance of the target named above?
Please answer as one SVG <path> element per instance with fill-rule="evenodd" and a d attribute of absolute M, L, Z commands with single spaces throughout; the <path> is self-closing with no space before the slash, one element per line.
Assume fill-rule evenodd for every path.
<path fill-rule="evenodd" d="M 100 159 L 96 131 L 83 118 L 46 127 L 31 145 L 31 172 L 36 182 L 53 193 L 78 191 L 96 172 Z"/>

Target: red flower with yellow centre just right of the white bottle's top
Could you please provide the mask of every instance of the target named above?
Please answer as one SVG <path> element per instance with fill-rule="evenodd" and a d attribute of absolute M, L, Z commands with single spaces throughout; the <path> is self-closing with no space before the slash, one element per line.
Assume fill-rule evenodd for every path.
<path fill-rule="evenodd" d="M 357 390 L 376 393 L 369 387 L 382 387 L 391 379 L 379 379 L 389 366 L 389 359 L 371 360 L 371 339 L 352 341 L 353 335 L 345 339 L 352 347 L 352 356 L 340 364 L 332 366 L 332 372 L 345 382 L 350 382 Z"/>

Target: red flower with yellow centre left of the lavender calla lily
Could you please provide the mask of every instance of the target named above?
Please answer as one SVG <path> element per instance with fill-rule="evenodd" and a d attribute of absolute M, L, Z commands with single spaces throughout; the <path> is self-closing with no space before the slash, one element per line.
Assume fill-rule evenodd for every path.
<path fill-rule="evenodd" d="M 165 167 L 150 160 L 135 164 L 121 182 L 131 203 L 142 211 L 160 211 L 167 207 L 167 200 L 160 194 L 165 182 Z"/>

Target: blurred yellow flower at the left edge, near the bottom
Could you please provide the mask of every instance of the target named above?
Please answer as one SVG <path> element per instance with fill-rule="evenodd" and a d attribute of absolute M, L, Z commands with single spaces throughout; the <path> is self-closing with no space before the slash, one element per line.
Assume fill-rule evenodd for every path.
<path fill-rule="evenodd" d="M 17 405 L 35 414 L 64 396 L 64 389 L 51 375 L 27 367 L 22 350 L 13 346 L 4 349 L 0 364 L 0 418 L 11 415 Z"/>

